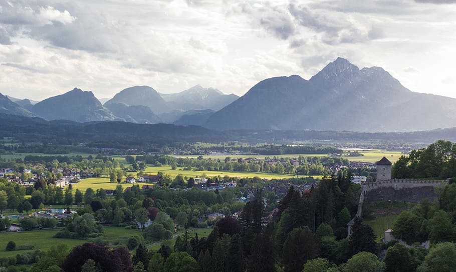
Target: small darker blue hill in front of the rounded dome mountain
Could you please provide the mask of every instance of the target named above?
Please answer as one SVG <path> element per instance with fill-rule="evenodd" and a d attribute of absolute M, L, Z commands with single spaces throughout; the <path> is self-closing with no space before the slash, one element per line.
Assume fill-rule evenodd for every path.
<path fill-rule="evenodd" d="M 124 103 L 108 103 L 106 108 L 117 117 L 133 123 L 159 123 L 160 118 L 148 106 L 127 106 Z"/>

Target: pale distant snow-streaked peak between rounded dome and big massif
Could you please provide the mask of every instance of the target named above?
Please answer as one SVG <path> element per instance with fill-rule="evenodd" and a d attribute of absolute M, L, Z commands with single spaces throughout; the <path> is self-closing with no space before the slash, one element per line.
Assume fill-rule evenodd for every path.
<path fill-rule="evenodd" d="M 193 86 L 178 93 L 160 93 L 173 109 L 219 110 L 239 98 L 236 94 L 224 94 L 215 88 Z"/>

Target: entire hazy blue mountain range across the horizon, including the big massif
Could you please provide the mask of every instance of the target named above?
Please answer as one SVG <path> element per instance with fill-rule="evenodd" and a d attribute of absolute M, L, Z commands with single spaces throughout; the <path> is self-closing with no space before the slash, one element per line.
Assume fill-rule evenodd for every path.
<path fill-rule="evenodd" d="M 429 130 L 456 126 L 455 111 L 454 98 L 410 91 L 381 67 L 359 69 L 340 57 L 309 80 L 299 75 L 268 78 L 242 97 L 200 85 L 172 94 L 133 86 L 104 104 L 78 88 L 40 102 L 0 95 L 0 113 L 216 130 Z"/>

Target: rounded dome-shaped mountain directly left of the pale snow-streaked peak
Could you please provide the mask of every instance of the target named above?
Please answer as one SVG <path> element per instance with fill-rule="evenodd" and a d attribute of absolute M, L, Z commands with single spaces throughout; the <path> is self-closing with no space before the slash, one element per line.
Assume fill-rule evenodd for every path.
<path fill-rule="evenodd" d="M 148 106 L 156 114 L 170 111 L 166 101 L 155 89 L 149 86 L 134 86 L 123 89 L 114 95 L 113 98 L 106 101 L 105 105 L 112 103 L 124 103 L 129 106 Z"/>

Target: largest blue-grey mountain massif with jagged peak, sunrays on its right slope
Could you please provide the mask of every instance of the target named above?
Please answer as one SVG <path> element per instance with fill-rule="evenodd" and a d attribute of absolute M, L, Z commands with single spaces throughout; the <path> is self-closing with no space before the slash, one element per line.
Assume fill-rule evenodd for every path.
<path fill-rule="evenodd" d="M 456 99 L 416 93 L 380 67 L 337 58 L 310 80 L 274 77 L 212 114 L 215 129 L 410 131 L 456 126 Z"/>

